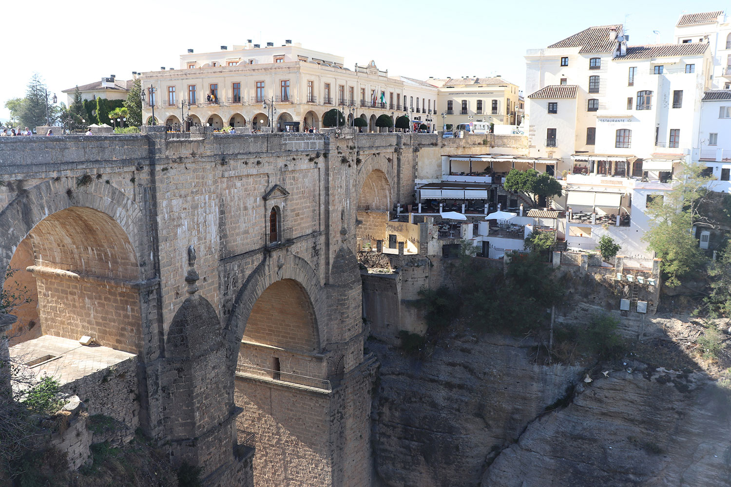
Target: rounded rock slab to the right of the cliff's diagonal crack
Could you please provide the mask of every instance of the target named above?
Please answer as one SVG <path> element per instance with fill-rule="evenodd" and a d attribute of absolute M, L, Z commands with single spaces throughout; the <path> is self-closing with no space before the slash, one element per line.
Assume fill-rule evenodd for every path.
<path fill-rule="evenodd" d="M 698 372 L 635 365 L 531 423 L 482 486 L 731 486 L 727 393 Z"/>

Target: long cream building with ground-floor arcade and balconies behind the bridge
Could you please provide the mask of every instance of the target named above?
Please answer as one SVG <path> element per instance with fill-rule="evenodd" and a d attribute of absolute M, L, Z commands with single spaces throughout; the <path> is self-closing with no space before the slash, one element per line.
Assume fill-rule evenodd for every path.
<path fill-rule="evenodd" d="M 154 106 L 156 123 L 165 124 L 190 117 L 216 129 L 272 126 L 275 131 L 303 131 L 319 129 L 322 115 L 336 107 L 348 125 L 360 117 L 368 123 L 365 130 L 378 131 L 379 115 L 408 113 L 412 120 L 423 117 L 419 121 L 426 123 L 426 115 L 436 107 L 437 90 L 428 83 L 389 77 L 374 61 L 349 69 L 341 56 L 289 40 L 276 47 L 249 41 L 232 50 L 221 46 L 213 53 L 189 49 L 181 55 L 180 69 L 161 68 L 140 77 L 145 120 L 150 120 Z M 434 129 L 433 123 L 429 129 Z"/>

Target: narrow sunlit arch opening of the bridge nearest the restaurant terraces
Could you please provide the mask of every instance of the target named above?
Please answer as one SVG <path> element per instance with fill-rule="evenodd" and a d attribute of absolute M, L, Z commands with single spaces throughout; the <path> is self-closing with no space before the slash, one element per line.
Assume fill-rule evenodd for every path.
<path fill-rule="evenodd" d="M 382 240 L 385 247 L 389 246 L 389 241 L 393 240 L 386 234 L 390 209 L 391 186 L 388 177 L 384 172 L 375 169 L 366 177 L 358 194 L 357 219 L 363 223 L 355 231 L 357 250 L 375 249 L 376 240 Z"/>

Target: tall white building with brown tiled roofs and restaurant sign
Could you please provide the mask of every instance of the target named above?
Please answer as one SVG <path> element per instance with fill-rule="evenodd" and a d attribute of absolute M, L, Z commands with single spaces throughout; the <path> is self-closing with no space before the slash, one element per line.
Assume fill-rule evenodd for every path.
<path fill-rule="evenodd" d="M 594 26 L 526 61 L 531 156 L 561 160 L 567 242 L 610 234 L 648 256 L 646 204 L 672 188 L 700 131 L 708 43 L 628 46 L 621 25 Z"/>

